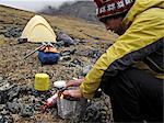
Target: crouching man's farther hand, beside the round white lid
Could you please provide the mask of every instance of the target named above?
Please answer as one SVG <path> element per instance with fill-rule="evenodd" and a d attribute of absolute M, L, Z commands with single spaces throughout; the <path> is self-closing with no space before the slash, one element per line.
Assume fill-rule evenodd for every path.
<path fill-rule="evenodd" d="M 79 87 L 84 79 L 70 80 L 67 82 L 66 87 Z"/>

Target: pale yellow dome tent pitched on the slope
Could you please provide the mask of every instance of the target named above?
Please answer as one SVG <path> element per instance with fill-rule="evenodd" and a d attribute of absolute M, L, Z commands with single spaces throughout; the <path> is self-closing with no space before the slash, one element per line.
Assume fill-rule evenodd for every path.
<path fill-rule="evenodd" d="M 21 38 L 27 38 L 27 42 L 40 43 L 52 42 L 56 43 L 56 34 L 48 22 L 40 15 L 35 15 L 26 24 L 22 32 Z"/>

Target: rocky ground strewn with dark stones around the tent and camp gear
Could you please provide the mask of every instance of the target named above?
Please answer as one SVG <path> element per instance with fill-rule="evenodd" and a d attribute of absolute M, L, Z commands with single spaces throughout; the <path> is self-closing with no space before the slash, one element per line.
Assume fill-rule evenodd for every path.
<path fill-rule="evenodd" d="M 30 19 L 30 16 L 26 18 Z M 26 18 L 24 20 L 27 21 Z M 81 118 L 73 120 L 59 119 L 57 108 L 51 108 L 46 113 L 42 113 L 39 109 L 43 102 L 56 92 L 52 82 L 83 77 L 83 71 L 96 62 L 112 42 L 101 41 L 103 35 L 97 38 L 97 35 L 95 37 L 92 33 L 81 36 L 77 35 L 77 32 L 73 35 L 73 31 L 69 32 L 70 29 L 68 29 L 66 32 L 71 36 L 72 43 L 58 41 L 56 44 L 62 58 L 56 65 L 42 66 L 37 53 L 23 59 L 40 44 L 19 44 L 17 37 L 25 22 L 17 24 L 15 23 L 17 21 L 14 23 L 12 21 L 7 23 L 0 20 L 0 123 L 113 122 L 109 98 L 105 94 L 90 101 Z M 38 72 L 49 75 L 50 89 L 46 93 L 40 94 L 33 88 L 35 74 Z"/>

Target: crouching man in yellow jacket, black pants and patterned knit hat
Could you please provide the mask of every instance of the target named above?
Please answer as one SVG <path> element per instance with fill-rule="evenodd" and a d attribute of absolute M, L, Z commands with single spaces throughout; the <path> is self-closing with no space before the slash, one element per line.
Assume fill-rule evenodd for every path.
<path fill-rule="evenodd" d="M 97 18 L 120 36 L 65 96 L 110 97 L 115 122 L 163 122 L 164 0 L 94 0 Z"/>

